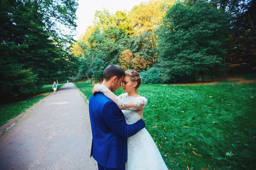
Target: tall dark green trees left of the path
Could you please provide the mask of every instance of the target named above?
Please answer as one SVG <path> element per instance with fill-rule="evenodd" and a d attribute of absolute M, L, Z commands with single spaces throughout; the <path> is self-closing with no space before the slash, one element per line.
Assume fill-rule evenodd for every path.
<path fill-rule="evenodd" d="M 73 74 L 76 0 L 0 2 L 0 94 L 30 94 Z M 61 29 L 65 26 L 65 30 Z"/>

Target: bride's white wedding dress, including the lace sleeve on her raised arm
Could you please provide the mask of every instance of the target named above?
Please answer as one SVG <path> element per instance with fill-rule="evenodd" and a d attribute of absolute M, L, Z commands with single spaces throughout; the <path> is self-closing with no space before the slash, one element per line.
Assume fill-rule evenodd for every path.
<path fill-rule="evenodd" d="M 95 86 L 98 92 L 108 96 L 122 109 L 127 124 L 134 124 L 142 118 L 136 111 L 144 110 L 148 101 L 145 97 L 128 96 L 127 93 L 116 96 L 104 85 Z M 128 138 L 126 170 L 168 170 L 154 140 L 145 128 Z"/>

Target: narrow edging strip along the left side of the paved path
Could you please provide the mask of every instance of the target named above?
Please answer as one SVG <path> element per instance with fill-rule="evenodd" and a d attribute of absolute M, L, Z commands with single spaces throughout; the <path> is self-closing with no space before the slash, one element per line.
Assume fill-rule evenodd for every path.
<path fill-rule="evenodd" d="M 64 85 L 63 85 L 64 86 Z M 61 86 L 61 88 L 63 87 Z M 59 89 L 61 89 L 59 88 Z M 49 96 L 52 96 L 54 92 L 52 92 L 51 94 L 49 94 L 48 96 L 44 97 L 43 99 L 39 100 L 37 103 L 35 103 L 34 105 L 32 105 L 30 108 L 26 109 L 26 111 L 20 113 L 18 116 L 16 116 L 15 118 L 12 118 L 9 122 L 7 122 L 6 124 L 4 124 L 3 126 L 0 127 L 0 137 L 6 133 L 7 130 L 11 129 L 12 127 L 14 127 L 16 125 L 17 122 L 19 122 L 20 120 L 22 120 L 24 117 L 26 117 L 29 113 L 31 113 L 33 110 L 35 110 L 35 108 L 37 108 L 39 105 L 41 105 L 45 99 L 47 99 Z"/>

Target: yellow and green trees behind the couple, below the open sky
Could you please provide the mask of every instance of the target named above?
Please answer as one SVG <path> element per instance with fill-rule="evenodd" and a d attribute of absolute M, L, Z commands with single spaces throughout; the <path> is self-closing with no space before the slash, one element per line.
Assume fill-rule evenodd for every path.
<path fill-rule="evenodd" d="M 90 64 L 88 62 L 90 67 L 81 65 L 76 77 L 81 70 L 86 70 L 96 79 L 101 78 L 102 63 L 105 66 L 119 64 L 124 69 L 137 71 L 151 67 L 159 57 L 154 30 L 173 4 L 173 0 L 150 1 L 135 6 L 128 14 L 122 11 L 111 14 L 105 8 L 96 11 L 93 26 L 88 27 L 73 45 L 77 57 L 92 58 Z"/>

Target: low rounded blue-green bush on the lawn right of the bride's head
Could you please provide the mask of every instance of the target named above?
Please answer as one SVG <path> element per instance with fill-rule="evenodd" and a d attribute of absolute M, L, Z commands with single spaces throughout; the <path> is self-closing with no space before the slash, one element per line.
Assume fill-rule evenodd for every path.
<path fill-rule="evenodd" d="M 140 72 L 140 77 L 142 78 L 143 84 L 158 84 L 163 83 L 161 79 L 161 69 L 156 67 L 151 67 L 147 71 Z"/>

